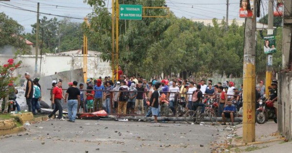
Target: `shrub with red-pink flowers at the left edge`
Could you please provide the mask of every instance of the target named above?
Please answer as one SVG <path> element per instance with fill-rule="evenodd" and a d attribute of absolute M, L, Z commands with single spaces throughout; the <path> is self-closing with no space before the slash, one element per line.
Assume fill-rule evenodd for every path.
<path fill-rule="evenodd" d="M 13 72 L 19 68 L 21 61 L 14 62 L 13 58 L 8 59 L 7 63 L 0 65 L 0 99 L 7 96 L 9 86 L 13 86 L 14 81 L 19 77 L 15 77 Z"/>

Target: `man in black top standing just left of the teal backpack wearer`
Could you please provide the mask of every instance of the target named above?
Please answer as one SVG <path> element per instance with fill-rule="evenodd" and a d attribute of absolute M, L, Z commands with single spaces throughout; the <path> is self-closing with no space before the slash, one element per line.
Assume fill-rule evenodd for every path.
<path fill-rule="evenodd" d="M 26 99 L 26 104 L 28 106 L 28 112 L 32 112 L 32 98 L 33 98 L 33 81 L 32 79 L 30 78 L 30 75 L 29 73 L 25 73 L 24 74 L 25 78 L 27 79 L 27 82 L 26 82 L 26 88 L 25 88 L 25 99 Z"/>

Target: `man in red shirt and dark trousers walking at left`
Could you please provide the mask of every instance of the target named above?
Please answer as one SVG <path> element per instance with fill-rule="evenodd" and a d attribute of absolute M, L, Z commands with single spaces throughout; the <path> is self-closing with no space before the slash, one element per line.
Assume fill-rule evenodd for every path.
<path fill-rule="evenodd" d="M 61 99 L 64 99 L 64 96 L 63 96 L 63 91 L 62 91 L 62 82 L 59 81 L 58 82 L 58 85 L 54 88 L 53 90 L 53 97 L 52 97 L 52 104 L 55 104 L 55 109 L 54 111 L 48 115 L 49 119 L 48 120 L 52 120 L 52 116 L 57 112 L 59 111 L 59 116 L 58 116 L 58 119 L 59 120 L 65 120 L 63 118 L 63 108 L 62 108 L 62 105 L 61 105 Z"/>

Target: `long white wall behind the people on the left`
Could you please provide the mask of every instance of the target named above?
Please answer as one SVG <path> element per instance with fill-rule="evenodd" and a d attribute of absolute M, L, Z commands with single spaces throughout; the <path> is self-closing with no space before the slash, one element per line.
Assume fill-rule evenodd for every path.
<path fill-rule="evenodd" d="M 0 64 L 7 62 L 12 55 L 0 55 Z M 40 56 L 37 59 L 37 76 L 50 76 L 55 72 L 63 72 L 83 68 L 83 55 L 74 54 L 46 54 L 42 56 L 40 65 Z M 16 61 L 22 61 L 21 68 L 16 71 L 16 75 L 24 75 L 29 72 L 34 77 L 36 57 L 33 55 L 24 55 L 17 57 Z M 40 67 L 41 66 L 41 67 Z M 91 54 L 87 56 L 87 77 L 97 78 L 102 76 L 111 76 L 110 62 L 101 61 L 100 54 Z M 41 69 L 41 71 L 39 71 Z M 39 75 L 40 74 L 40 75 Z M 24 78 L 24 77 L 23 77 Z"/>

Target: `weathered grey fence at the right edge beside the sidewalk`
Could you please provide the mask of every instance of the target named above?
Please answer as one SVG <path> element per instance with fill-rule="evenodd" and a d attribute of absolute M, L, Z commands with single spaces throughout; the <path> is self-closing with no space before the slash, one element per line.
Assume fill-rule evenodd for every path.
<path fill-rule="evenodd" d="M 292 72 L 278 75 L 278 132 L 292 139 Z"/>

